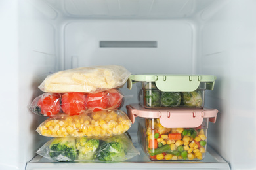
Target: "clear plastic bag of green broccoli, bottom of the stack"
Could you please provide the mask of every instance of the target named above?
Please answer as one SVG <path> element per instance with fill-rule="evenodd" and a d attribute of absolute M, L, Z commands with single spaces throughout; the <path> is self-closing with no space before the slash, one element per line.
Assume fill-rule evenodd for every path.
<path fill-rule="evenodd" d="M 64 137 L 45 143 L 37 154 L 55 161 L 125 161 L 139 155 L 126 133 L 114 137 Z"/>

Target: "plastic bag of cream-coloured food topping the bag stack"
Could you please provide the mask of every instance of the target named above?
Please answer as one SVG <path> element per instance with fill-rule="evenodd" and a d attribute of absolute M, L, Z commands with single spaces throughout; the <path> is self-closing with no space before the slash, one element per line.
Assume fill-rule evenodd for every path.
<path fill-rule="evenodd" d="M 79 67 L 48 75 L 39 88 L 49 93 L 95 93 L 123 86 L 130 75 L 119 65 Z"/>

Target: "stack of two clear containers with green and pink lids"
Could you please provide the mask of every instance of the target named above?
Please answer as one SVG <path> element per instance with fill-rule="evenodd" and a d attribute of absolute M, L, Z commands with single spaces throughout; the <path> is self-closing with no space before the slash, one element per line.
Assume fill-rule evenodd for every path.
<path fill-rule="evenodd" d="M 138 139 L 152 161 L 202 160 L 208 122 L 217 109 L 204 107 L 205 90 L 213 90 L 211 75 L 131 75 L 139 103 L 127 105 L 132 122 L 139 117 Z"/>

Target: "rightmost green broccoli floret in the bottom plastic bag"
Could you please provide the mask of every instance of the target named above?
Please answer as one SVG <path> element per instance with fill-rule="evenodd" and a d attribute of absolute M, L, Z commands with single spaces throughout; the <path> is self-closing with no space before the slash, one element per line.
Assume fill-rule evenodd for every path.
<path fill-rule="evenodd" d="M 100 150 L 97 154 L 100 161 L 119 161 L 125 158 L 123 143 L 121 142 L 102 142 Z"/>

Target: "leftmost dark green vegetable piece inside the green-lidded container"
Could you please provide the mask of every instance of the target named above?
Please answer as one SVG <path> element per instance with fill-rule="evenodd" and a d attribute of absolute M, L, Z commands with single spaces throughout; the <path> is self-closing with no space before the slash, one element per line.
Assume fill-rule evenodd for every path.
<path fill-rule="evenodd" d="M 158 90 L 146 90 L 145 98 L 148 106 L 160 106 L 160 92 Z"/>

